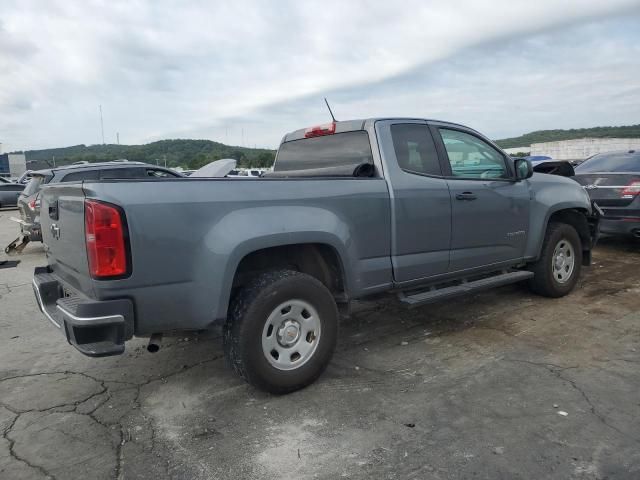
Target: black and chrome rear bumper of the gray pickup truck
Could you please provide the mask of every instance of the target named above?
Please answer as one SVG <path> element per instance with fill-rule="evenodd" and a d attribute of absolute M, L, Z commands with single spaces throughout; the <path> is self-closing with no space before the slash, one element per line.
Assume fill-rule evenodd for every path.
<path fill-rule="evenodd" d="M 93 300 L 69 289 L 48 267 L 36 267 L 33 291 L 44 316 L 81 353 L 90 357 L 119 355 L 133 336 L 133 302 Z"/>

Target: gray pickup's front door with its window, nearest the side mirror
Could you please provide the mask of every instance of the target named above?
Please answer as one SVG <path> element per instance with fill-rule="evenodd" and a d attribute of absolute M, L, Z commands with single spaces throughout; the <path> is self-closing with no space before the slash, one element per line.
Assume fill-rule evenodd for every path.
<path fill-rule="evenodd" d="M 433 126 L 451 192 L 449 271 L 523 258 L 529 229 L 528 181 L 508 157 L 472 130 Z"/>

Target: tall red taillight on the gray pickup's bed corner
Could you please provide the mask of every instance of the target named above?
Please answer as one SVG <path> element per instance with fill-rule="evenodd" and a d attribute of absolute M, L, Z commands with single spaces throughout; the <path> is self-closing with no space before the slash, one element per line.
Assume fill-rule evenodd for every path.
<path fill-rule="evenodd" d="M 84 202 L 87 257 L 93 278 L 119 277 L 128 271 L 123 216 L 113 205 Z"/>

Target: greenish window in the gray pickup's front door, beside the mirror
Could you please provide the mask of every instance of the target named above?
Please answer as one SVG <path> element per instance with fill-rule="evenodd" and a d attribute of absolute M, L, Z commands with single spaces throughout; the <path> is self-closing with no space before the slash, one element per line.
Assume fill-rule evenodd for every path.
<path fill-rule="evenodd" d="M 509 178 L 504 156 L 484 140 L 458 130 L 440 128 L 454 177 Z"/>

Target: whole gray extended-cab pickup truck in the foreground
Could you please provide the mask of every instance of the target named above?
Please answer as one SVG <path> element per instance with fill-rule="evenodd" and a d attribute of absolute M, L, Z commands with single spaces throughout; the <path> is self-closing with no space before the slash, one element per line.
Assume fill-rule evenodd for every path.
<path fill-rule="evenodd" d="M 590 263 L 593 208 L 575 181 L 462 125 L 334 122 L 287 134 L 257 180 L 44 187 L 48 266 L 33 286 L 86 355 L 223 322 L 230 365 L 285 393 L 322 373 L 352 299 L 415 307 L 525 280 L 568 294 Z"/>

